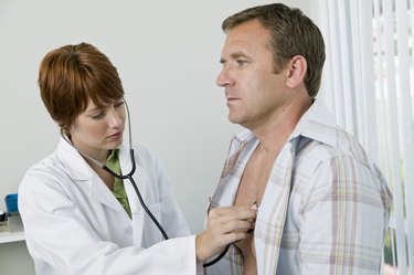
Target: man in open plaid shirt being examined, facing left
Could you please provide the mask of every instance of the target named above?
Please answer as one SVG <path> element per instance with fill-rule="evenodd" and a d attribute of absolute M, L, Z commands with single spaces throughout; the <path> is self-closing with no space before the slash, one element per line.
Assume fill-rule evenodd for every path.
<path fill-rule="evenodd" d="M 317 25 L 280 3 L 241 11 L 217 85 L 231 142 L 210 208 L 258 205 L 254 232 L 208 274 L 380 274 L 392 194 L 358 141 L 316 99 L 325 63 Z"/>

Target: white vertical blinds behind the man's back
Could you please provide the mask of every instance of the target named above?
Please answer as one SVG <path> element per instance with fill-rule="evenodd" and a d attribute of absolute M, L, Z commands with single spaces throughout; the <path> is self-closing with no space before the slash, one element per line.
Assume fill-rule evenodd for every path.
<path fill-rule="evenodd" d="M 314 7 L 327 45 L 319 99 L 393 191 L 383 274 L 414 275 L 414 0 L 318 0 Z"/>

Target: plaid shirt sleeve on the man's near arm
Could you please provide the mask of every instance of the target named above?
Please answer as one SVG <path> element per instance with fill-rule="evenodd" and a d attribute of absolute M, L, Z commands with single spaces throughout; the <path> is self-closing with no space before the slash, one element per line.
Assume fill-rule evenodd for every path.
<path fill-rule="evenodd" d="M 376 170 L 352 157 L 333 157 L 307 184 L 300 274 L 379 274 L 391 197 Z"/>

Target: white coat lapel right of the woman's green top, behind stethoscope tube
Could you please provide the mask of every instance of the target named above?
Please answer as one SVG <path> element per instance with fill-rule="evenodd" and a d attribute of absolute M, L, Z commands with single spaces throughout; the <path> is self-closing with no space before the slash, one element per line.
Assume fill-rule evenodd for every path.
<path fill-rule="evenodd" d="M 119 161 L 120 161 L 120 170 L 123 173 L 127 174 L 132 169 L 132 163 L 129 155 L 128 149 L 124 149 L 119 151 Z M 132 176 L 137 188 L 144 199 L 146 201 L 146 193 L 147 193 L 147 184 L 144 169 L 139 163 L 136 161 L 136 170 Z M 134 243 L 136 245 L 141 245 L 142 243 L 142 232 L 144 232 L 144 218 L 145 211 L 139 203 L 138 195 L 134 189 L 132 182 L 130 180 L 124 180 L 125 190 L 128 195 L 129 207 L 132 213 L 132 229 L 134 229 Z"/>

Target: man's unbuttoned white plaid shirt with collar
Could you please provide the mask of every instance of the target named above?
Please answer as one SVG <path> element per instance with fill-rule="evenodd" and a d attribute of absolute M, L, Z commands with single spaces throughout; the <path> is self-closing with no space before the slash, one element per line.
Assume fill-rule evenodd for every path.
<path fill-rule="evenodd" d="M 233 205 L 258 140 L 233 138 L 210 208 Z M 392 194 L 357 140 L 317 102 L 277 157 L 254 231 L 258 275 L 380 274 Z M 205 269 L 243 274 L 240 250 Z"/>

